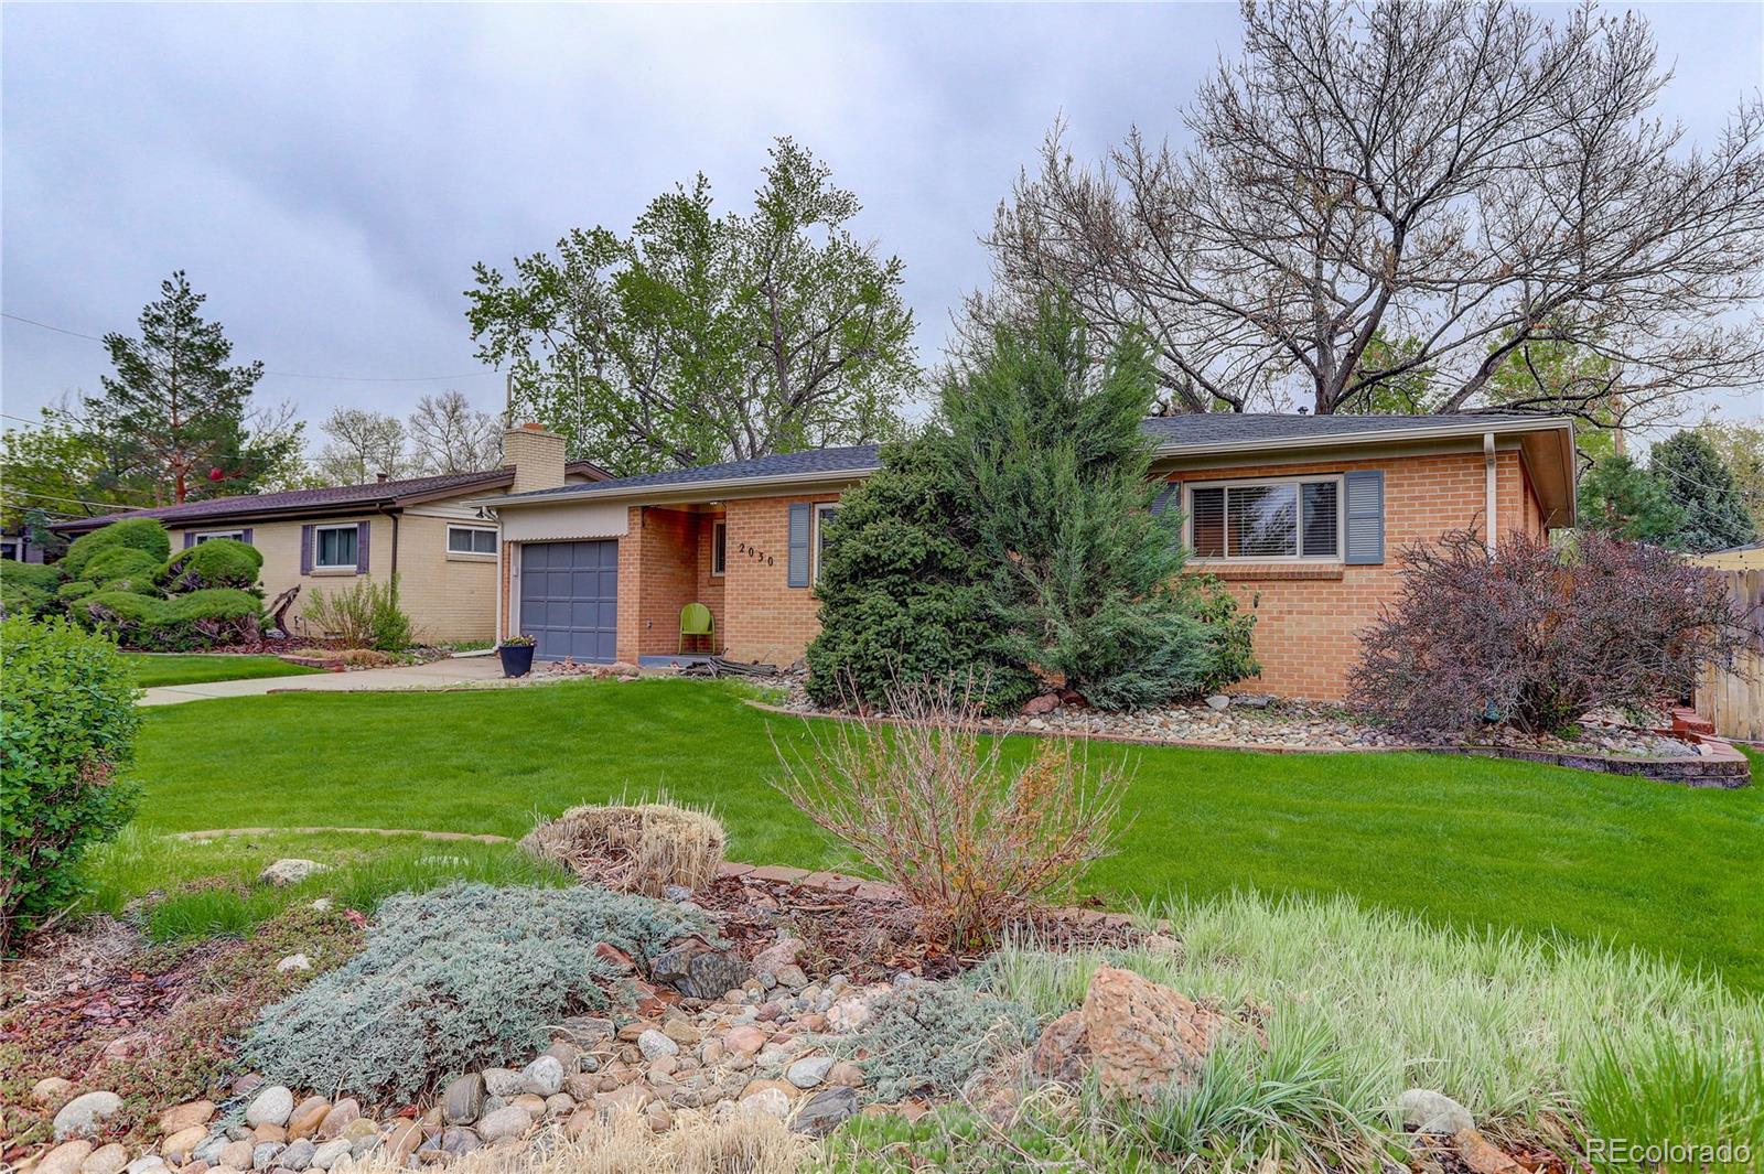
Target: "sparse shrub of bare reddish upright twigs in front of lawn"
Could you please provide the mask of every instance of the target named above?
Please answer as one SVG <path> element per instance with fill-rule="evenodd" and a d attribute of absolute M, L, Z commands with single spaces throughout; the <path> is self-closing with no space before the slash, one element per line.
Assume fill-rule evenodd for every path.
<path fill-rule="evenodd" d="M 1124 763 L 1090 770 L 1071 740 L 1037 740 L 1027 762 L 1005 762 L 1004 740 L 983 739 L 981 696 L 896 684 L 893 719 L 817 723 L 801 753 L 773 740 L 773 786 L 900 885 L 926 940 L 949 948 L 986 947 L 1067 897 L 1111 855 L 1131 783 Z"/>

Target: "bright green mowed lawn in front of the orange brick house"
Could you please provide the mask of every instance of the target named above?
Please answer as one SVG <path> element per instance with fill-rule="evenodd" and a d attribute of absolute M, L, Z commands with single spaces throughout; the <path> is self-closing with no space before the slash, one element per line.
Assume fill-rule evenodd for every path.
<path fill-rule="evenodd" d="M 686 680 L 196 702 L 146 714 L 138 825 L 519 836 L 577 802 L 665 791 L 713 807 L 732 858 L 850 867 L 766 784 L 767 726 L 789 744 L 804 723 Z M 1432 754 L 1131 754 L 1132 825 L 1088 881 L 1113 903 L 1346 892 L 1434 922 L 1633 945 L 1764 989 L 1764 788 Z"/>

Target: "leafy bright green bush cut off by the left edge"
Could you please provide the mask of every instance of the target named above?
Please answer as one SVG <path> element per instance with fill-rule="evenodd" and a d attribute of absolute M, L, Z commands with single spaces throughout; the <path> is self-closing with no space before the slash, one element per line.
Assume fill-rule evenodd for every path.
<path fill-rule="evenodd" d="M 0 954 L 78 892 L 136 807 L 139 714 L 116 645 L 55 617 L 0 622 Z"/>

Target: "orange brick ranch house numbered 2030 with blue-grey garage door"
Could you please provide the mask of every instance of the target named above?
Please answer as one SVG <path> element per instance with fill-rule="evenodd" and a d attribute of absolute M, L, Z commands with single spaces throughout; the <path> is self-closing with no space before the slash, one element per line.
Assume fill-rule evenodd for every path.
<path fill-rule="evenodd" d="M 1341 698 L 1357 633 L 1395 596 L 1408 543 L 1573 524 L 1563 418 L 1196 414 L 1145 427 L 1168 481 L 1155 508 L 1184 511 L 1191 566 L 1258 599 L 1254 689 Z M 561 469 L 561 439 L 533 442 Z M 584 485 L 524 476 L 478 502 L 503 529 L 497 636 L 534 636 L 540 659 L 667 663 L 681 608 L 702 603 L 716 652 L 796 661 L 818 631 L 822 525 L 877 464 L 875 446 L 856 446 Z"/>

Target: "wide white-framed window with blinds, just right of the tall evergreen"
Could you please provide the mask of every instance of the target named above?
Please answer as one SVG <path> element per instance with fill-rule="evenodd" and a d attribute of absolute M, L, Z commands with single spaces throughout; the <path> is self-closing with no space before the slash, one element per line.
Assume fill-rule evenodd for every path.
<path fill-rule="evenodd" d="M 1200 561 L 1341 561 L 1339 476 L 1203 481 L 1187 494 L 1189 550 Z"/>

